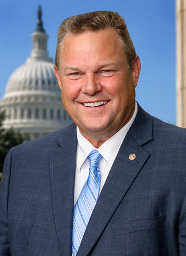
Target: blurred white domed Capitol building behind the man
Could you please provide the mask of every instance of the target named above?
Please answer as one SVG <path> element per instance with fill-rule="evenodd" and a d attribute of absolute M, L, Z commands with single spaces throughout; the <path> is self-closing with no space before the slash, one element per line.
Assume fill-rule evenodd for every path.
<path fill-rule="evenodd" d="M 26 63 L 10 76 L 0 111 L 5 110 L 3 127 L 14 127 L 34 139 L 72 123 L 60 97 L 52 58 L 48 56 L 48 35 L 43 28 L 41 7 L 37 28 L 31 35 L 33 50 Z"/>

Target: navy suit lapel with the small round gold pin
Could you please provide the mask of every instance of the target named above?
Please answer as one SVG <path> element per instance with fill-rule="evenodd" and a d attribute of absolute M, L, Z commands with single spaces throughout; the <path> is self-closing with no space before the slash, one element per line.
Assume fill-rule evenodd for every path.
<path fill-rule="evenodd" d="M 141 147 L 153 139 L 152 117 L 138 105 L 138 114 L 108 174 L 84 233 L 77 256 L 87 256 L 150 154 Z M 135 153 L 136 159 L 129 155 Z"/>

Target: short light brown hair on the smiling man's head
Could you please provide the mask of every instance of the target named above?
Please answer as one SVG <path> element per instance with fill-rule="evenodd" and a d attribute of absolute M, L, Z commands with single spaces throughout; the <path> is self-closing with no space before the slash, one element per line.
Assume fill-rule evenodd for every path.
<path fill-rule="evenodd" d="M 99 31 L 108 27 L 114 28 L 118 33 L 122 46 L 124 47 L 129 68 L 133 68 L 136 51 L 124 19 L 117 12 L 95 11 L 72 16 L 60 24 L 57 33 L 55 54 L 55 66 L 57 70 L 59 70 L 60 48 L 67 33 L 78 34 L 85 31 Z"/>

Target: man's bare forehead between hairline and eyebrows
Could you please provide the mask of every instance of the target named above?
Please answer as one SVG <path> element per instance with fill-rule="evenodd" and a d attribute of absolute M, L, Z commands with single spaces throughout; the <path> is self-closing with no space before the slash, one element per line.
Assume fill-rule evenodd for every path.
<path fill-rule="evenodd" d="M 118 58 L 123 54 L 121 39 L 113 28 L 65 35 L 60 49 L 60 62 L 69 59 L 88 61 L 95 58 Z"/>

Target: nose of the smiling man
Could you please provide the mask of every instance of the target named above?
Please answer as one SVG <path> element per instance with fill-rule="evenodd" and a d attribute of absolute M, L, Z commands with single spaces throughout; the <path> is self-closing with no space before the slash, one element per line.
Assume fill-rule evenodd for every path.
<path fill-rule="evenodd" d="M 81 91 L 89 95 L 95 95 L 96 92 L 102 91 L 102 85 L 95 73 L 85 75 Z"/>

